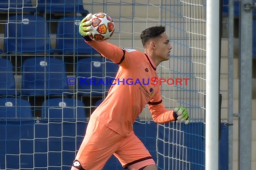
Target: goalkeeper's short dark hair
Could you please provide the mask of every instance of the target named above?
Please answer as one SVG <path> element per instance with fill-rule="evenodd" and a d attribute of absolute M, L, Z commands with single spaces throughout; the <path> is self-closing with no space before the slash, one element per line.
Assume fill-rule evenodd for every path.
<path fill-rule="evenodd" d="M 164 26 L 152 26 L 141 32 L 141 43 L 143 47 L 151 38 L 159 37 L 165 31 Z"/>

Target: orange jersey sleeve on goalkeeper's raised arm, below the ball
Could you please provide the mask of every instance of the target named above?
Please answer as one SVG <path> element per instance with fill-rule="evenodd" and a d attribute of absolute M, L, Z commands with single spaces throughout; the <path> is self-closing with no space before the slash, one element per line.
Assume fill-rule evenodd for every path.
<path fill-rule="evenodd" d="M 117 47 L 106 41 L 85 41 L 96 51 L 98 51 L 103 57 L 106 57 L 116 64 L 121 65 L 124 68 L 128 67 L 127 61 L 125 60 L 126 51 L 120 47 Z"/>

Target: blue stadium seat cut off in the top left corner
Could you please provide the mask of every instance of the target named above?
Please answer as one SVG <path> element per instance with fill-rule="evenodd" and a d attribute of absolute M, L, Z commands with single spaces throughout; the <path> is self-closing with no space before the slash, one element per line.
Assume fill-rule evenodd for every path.
<path fill-rule="evenodd" d="M 0 12 L 35 12 L 31 0 L 1 0 Z"/>

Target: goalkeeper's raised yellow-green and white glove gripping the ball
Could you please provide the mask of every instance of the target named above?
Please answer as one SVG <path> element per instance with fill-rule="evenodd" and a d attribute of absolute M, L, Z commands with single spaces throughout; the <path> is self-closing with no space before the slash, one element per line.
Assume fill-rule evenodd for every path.
<path fill-rule="evenodd" d="M 89 13 L 86 17 L 84 17 L 79 25 L 79 34 L 85 39 L 85 41 L 92 41 L 92 39 L 89 37 L 90 35 L 92 35 L 92 32 L 90 31 L 93 29 L 93 26 L 91 26 L 91 18 L 92 14 Z"/>

